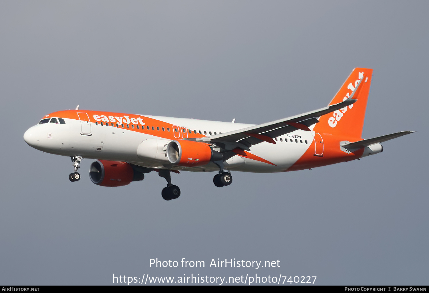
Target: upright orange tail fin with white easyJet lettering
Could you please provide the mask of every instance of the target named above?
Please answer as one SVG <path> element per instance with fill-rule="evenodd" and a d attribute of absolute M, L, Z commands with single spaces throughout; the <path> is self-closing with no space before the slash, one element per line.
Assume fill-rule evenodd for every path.
<path fill-rule="evenodd" d="M 314 126 L 313 130 L 317 133 L 329 133 L 348 138 L 347 140 L 349 141 L 359 140 L 362 137 L 371 79 L 372 69 L 353 69 L 329 105 L 337 104 L 347 99 L 359 81 L 362 80 L 353 96 L 353 99 L 357 99 L 357 102 L 323 115 L 319 118 L 320 122 Z"/>

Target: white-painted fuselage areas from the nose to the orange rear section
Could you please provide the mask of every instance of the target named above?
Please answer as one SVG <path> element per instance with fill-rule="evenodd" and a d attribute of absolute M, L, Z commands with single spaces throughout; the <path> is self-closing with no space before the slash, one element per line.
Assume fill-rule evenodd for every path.
<path fill-rule="evenodd" d="M 139 116 L 143 117 L 143 115 Z M 174 133 L 175 139 L 188 138 L 189 131 L 197 133 L 201 131 L 203 134 L 209 135 L 210 132 L 224 133 L 253 126 L 253 124 L 172 117 L 144 117 L 178 126 L 181 131 Z M 31 127 L 24 135 L 25 141 L 36 149 L 56 155 L 81 155 L 83 158 L 128 161 L 143 167 L 157 169 L 200 172 L 219 169 L 211 162 L 199 167 L 172 165 L 165 156 L 165 145 L 172 139 L 166 139 L 165 135 L 162 135 L 162 128 L 157 130 L 157 125 L 154 125 L 154 130 L 150 126 L 149 130 L 145 129 L 144 131 L 136 132 L 135 129 L 127 129 L 127 127 L 121 127 L 121 125 L 115 127 L 108 123 L 109 126 L 106 126 L 106 123 L 104 123 L 101 126 L 100 123 L 96 125 L 94 122 L 83 125 L 80 120 L 67 118 L 64 118 L 64 120 L 65 124 L 45 123 Z M 252 155 L 261 157 L 272 164 L 234 155 L 225 161 L 225 168 L 257 173 L 285 171 L 308 149 L 314 140 L 314 132 L 296 130 L 275 138 L 275 140 L 276 144 L 263 142 L 250 148 Z M 149 147 L 154 149 L 148 149 Z M 153 155 L 150 155 L 151 153 Z"/>

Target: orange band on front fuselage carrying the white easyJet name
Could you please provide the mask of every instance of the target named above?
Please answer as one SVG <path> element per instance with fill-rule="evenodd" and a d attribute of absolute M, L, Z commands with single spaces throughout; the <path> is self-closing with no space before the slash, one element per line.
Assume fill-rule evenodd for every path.
<path fill-rule="evenodd" d="M 160 138 L 165 138 L 165 139 L 169 139 L 169 140 L 178 140 L 178 139 L 183 139 L 182 135 L 184 137 L 187 138 L 203 138 L 205 137 L 205 135 L 201 135 L 199 133 L 194 133 L 193 130 L 191 129 L 191 133 L 189 133 L 189 129 L 186 129 L 187 134 L 184 135 L 182 128 L 185 128 L 184 126 L 178 126 L 178 132 L 176 132 L 176 136 L 179 136 L 178 138 L 174 137 L 174 129 L 173 126 L 175 126 L 174 124 L 169 124 L 160 120 L 156 120 L 156 119 L 152 119 L 152 118 L 148 118 L 142 115 L 137 115 L 137 114 L 126 114 L 126 113 L 112 113 L 112 112 L 103 112 L 103 111 L 88 111 L 88 110 L 65 110 L 65 111 L 58 111 L 58 112 L 53 112 L 51 114 L 46 115 L 43 118 L 48 118 L 48 117 L 58 117 L 58 118 L 67 118 L 67 119 L 73 119 L 73 120 L 78 120 L 79 121 L 79 116 L 77 113 L 87 113 L 89 120 L 91 123 L 96 123 L 98 122 L 98 126 L 94 126 L 94 127 L 115 127 L 115 128 L 119 128 L 119 129 L 127 129 L 130 131 L 134 131 L 134 132 L 139 132 L 139 133 L 145 133 L 148 135 L 154 135 Z M 107 119 L 109 119 L 109 117 L 111 117 L 112 120 L 115 120 L 115 122 L 112 122 L 112 120 L 109 120 L 109 126 L 106 126 L 105 123 L 106 121 L 97 121 L 94 118 L 94 115 L 98 115 L 100 116 L 100 118 L 98 119 L 102 119 L 101 117 L 104 116 Z M 126 118 L 125 116 L 127 116 L 128 118 Z M 103 118 L 104 118 L 103 117 Z M 120 119 L 118 120 L 118 118 L 122 119 L 122 123 L 119 123 Z M 42 119 L 43 119 L 42 118 Z M 106 118 L 104 120 L 106 120 Z M 140 118 L 140 120 L 138 120 Z M 131 120 L 131 119 L 136 119 L 137 120 L 137 124 L 132 123 L 131 121 L 129 123 L 124 123 L 124 119 Z M 135 121 L 135 120 L 134 120 Z M 144 123 L 144 125 L 142 125 L 142 123 L 140 123 L 140 121 L 142 121 Z M 103 126 L 100 125 L 100 123 L 103 122 Z M 111 126 L 111 123 L 113 123 L 114 126 Z M 116 123 L 118 123 L 119 127 L 116 127 Z M 124 125 L 124 127 L 121 126 L 121 124 Z M 127 124 L 129 125 L 129 128 L 127 128 Z M 134 128 L 132 128 L 132 125 L 134 125 Z M 139 126 L 139 129 L 136 128 L 136 126 Z M 142 129 L 142 127 L 144 126 L 144 129 Z M 147 126 L 149 126 L 149 129 L 147 129 Z M 154 126 L 155 130 L 152 130 L 152 126 Z M 160 128 L 160 130 L 157 130 L 157 127 Z M 165 131 L 162 131 L 162 128 L 164 127 Z M 170 131 L 167 131 L 167 128 L 170 129 Z"/>

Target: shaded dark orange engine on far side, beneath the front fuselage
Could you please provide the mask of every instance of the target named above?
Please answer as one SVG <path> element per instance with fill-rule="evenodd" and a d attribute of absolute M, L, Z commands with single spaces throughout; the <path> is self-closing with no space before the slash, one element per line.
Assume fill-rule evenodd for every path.
<path fill-rule="evenodd" d="M 101 186 L 124 186 L 131 181 L 143 180 L 145 175 L 133 170 L 127 162 L 99 160 L 91 164 L 89 178 Z"/>

